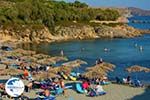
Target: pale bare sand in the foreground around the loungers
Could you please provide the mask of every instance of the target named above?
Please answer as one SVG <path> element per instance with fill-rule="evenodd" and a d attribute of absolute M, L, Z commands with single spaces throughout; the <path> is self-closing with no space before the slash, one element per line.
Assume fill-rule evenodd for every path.
<path fill-rule="evenodd" d="M 134 99 L 134 97 L 137 95 L 142 95 L 145 92 L 145 88 L 133 88 L 117 84 L 110 84 L 104 86 L 104 90 L 107 91 L 106 95 L 97 97 L 87 97 L 85 94 L 79 94 L 72 89 L 67 89 L 66 96 L 56 96 L 56 100 L 132 100 L 132 98 L 133 100 L 137 100 Z M 147 95 L 140 96 L 138 100 L 142 100 L 141 98 L 145 98 L 145 100 L 148 100 L 148 93 L 150 93 L 150 90 L 148 90 Z M 25 93 L 25 95 L 31 98 L 36 97 L 35 91 L 33 90 L 29 93 Z"/>

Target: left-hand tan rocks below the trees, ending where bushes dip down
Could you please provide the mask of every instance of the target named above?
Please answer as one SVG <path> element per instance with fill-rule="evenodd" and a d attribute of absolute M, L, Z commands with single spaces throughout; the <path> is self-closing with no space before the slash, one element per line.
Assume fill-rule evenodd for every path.
<path fill-rule="evenodd" d="M 0 29 L 0 40 L 12 42 L 51 42 L 53 36 L 48 28 L 43 29 Z"/>

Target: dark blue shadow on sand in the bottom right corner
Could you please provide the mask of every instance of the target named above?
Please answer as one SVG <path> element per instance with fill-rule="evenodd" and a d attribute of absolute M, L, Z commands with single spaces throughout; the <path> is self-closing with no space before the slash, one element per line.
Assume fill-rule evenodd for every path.
<path fill-rule="evenodd" d="M 149 88 L 147 87 L 143 94 L 134 96 L 129 100 L 150 100 L 150 87 Z"/>

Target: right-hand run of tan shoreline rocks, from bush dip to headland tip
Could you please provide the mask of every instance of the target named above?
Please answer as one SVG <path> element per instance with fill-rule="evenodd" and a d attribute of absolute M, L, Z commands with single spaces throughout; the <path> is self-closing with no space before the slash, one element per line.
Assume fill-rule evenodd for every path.
<path fill-rule="evenodd" d="M 141 35 L 140 31 L 127 25 L 108 27 L 108 26 L 58 26 L 56 37 L 59 39 L 89 39 L 89 38 L 131 38 Z"/>

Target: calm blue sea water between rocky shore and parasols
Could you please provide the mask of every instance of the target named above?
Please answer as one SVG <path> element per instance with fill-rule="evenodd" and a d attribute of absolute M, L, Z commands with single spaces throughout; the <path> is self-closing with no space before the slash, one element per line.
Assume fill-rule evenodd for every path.
<path fill-rule="evenodd" d="M 132 24 L 129 23 L 129 25 Z M 143 25 L 137 25 L 137 27 L 143 29 Z M 135 44 L 137 44 L 137 47 Z M 143 51 L 139 50 L 139 46 L 143 47 Z M 130 39 L 97 39 L 40 45 L 26 44 L 21 47 L 53 56 L 60 55 L 60 51 L 63 50 L 70 60 L 79 58 L 88 62 L 88 65 L 80 68 L 80 72 L 83 72 L 86 67 L 95 64 L 96 59 L 101 57 L 104 61 L 111 62 L 117 66 L 113 72 L 109 73 L 110 78 L 131 75 L 133 78 L 138 77 L 143 82 L 150 83 L 150 73 L 128 73 L 125 71 L 125 68 L 131 65 L 150 68 L 150 35 L 148 34 Z M 109 51 L 104 52 L 104 48 L 108 48 Z"/>

